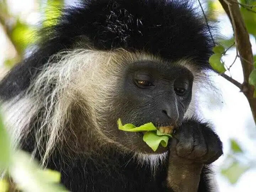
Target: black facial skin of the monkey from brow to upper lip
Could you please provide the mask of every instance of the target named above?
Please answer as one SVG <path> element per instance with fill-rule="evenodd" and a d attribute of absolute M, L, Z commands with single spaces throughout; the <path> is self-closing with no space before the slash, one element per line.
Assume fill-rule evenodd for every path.
<path fill-rule="evenodd" d="M 137 62 L 126 71 L 122 95 L 137 117 L 123 117 L 136 126 L 152 122 L 155 126 L 179 124 L 192 96 L 192 73 L 171 63 Z M 184 92 L 182 92 L 184 91 Z M 135 118 L 135 119 L 134 119 Z"/>

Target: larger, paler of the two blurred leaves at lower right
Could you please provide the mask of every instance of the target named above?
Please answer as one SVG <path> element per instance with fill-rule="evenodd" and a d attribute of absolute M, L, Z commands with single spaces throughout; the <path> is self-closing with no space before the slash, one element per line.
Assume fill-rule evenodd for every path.
<path fill-rule="evenodd" d="M 235 161 L 227 169 L 222 169 L 221 173 L 228 178 L 230 183 L 234 184 L 249 168 L 249 166 L 240 165 L 239 162 Z"/>

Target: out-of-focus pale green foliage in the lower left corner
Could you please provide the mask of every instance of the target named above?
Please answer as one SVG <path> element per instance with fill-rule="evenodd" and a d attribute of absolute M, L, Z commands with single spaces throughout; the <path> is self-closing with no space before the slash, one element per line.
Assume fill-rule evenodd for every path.
<path fill-rule="evenodd" d="M 10 186 L 24 192 L 67 192 L 58 184 L 60 173 L 53 170 L 42 170 L 36 160 L 31 160 L 30 154 L 11 150 L 8 134 L 0 118 L 0 175 L 5 171 L 6 178 L 0 180 L 0 192 L 8 192 Z M 18 161 L 17 161 L 18 159 Z M 28 163 L 29 162 L 29 163 Z"/>

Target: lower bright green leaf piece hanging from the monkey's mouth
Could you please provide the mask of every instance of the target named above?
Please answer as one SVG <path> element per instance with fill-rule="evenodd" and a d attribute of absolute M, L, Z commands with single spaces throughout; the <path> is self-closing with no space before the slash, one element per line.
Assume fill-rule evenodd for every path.
<path fill-rule="evenodd" d="M 163 147 L 167 146 L 169 137 L 167 135 L 156 135 L 153 131 L 148 131 L 143 136 L 143 141 L 146 142 L 146 144 L 153 150 L 156 151 L 158 149 L 159 144 Z"/>

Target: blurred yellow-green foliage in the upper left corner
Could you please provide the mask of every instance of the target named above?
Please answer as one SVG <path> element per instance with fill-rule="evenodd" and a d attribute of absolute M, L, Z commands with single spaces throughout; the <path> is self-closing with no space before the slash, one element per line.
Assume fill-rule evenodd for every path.
<path fill-rule="evenodd" d="M 60 16 L 60 10 L 64 6 L 64 0 L 38 0 L 40 5 L 40 14 L 44 21 L 37 25 L 22 20 L 19 15 L 11 14 L 7 1 L 0 1 L 0 25 L 4 28 L 4 32 L 10 42 L 13 44 L 17 56 L 15 58 L 7 58 L 5 65 L 12 67 L 19 62 L 26 52 L 26 48 L 35 43 L 36 32 L 42 27 L 49 27 L 56 23 L 56 18 Z"/>

